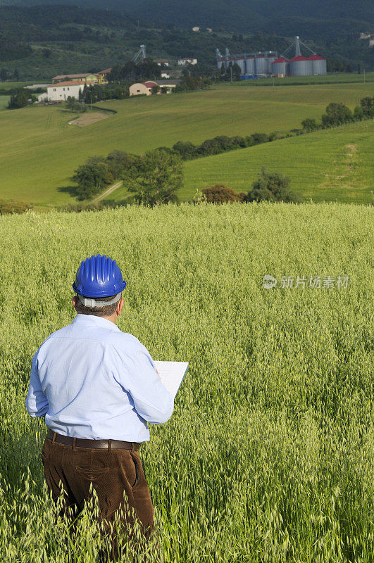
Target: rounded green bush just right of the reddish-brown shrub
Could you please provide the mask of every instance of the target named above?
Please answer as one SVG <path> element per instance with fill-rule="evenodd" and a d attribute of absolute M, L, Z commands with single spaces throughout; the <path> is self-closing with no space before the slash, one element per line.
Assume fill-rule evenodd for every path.
<path fill-rule="evenodd" d="M 290 184 L 287 177 L 278 172 L 268 172 L 263 167 L 261 177 L 254 182 L 244 201 L 301 201 L 297 194 L 289 190 Z"/>

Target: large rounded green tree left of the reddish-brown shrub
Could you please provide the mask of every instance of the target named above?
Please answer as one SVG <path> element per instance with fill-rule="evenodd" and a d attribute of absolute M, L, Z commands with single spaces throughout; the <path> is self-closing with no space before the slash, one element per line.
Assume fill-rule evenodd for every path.
<path fill-rule="evenodd" d="M 128 179 L 127 189 L 135 194 L 137 203 L 153 206 L 177 201 L 182 180 L 180 157 L 156 148 L 139 159 L 137 174 Z"/>

